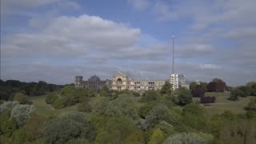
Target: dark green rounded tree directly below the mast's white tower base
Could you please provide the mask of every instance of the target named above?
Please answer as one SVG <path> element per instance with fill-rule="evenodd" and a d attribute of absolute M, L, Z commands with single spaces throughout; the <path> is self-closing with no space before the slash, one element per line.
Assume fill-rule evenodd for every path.
<path fill-rule="evenodd" d="M 178 94 L 178 103 L 180 106 L 185 106 L 192 102 L 192 94 L 190 90 L 180 89 Z"/>

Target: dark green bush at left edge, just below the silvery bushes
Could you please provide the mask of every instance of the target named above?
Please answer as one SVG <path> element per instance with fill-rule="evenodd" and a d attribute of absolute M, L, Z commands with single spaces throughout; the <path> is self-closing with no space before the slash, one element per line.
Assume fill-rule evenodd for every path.
<path fill-rule="evenodd" d="M 10 137 L 14 130 L 17 129 L 16 123 L 10 118 L 10 111 L 6 110 L 0 114 L 0 135 L 6 134 Z"/>

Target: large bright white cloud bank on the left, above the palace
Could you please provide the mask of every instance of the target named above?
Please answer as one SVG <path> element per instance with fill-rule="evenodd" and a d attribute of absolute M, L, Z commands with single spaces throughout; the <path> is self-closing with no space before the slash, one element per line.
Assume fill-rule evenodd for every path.
<path fill-rule="evenodd" d="M 133 46 L 140 38 L 139 29 L 122 23 L 83 14 L 51 19 L 46 28 L 35 33 L 12 34 L 1 43 L 2 56 L 38 55 L 77 57 L 91 50 L 114 51 Z"/>

